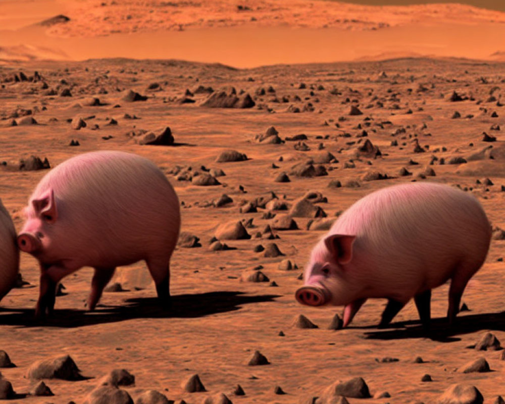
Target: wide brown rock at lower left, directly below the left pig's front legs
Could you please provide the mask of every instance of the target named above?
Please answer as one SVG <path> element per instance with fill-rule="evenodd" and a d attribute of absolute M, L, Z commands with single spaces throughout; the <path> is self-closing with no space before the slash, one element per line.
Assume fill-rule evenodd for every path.
<path fill-rule="evenodd" d="M 69 355 L 34 362 L 29 368 L 29 379 L 82 380 L 79 369 Z"/>

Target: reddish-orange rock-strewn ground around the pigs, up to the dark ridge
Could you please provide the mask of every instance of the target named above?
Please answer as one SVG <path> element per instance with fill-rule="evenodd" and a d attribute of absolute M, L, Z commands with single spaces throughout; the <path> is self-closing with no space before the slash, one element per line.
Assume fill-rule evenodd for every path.
<path fill-rule="evenodd" d="M 91 269 L 65 278 L 54 318 L 37 323 L 37 264 L 23 254 L 28 283 L 1 302 L 0 348 L 16 365 L 2 369 L 3 380 L 19 402 L 106 402 L 93 398 L 104 394 L 129 402 L 123 390 L 136 403 L 163 402 L 155 393 L 140 398 L 157 390 L 189 404 L 229 402 L 220 393 L 234 403 L 345 402 L 336 400 L 341 394 L 350 403 L 368 395 L 371 403 L 430 403 L 455 383 L 502 402 L 498 342 L 487 336 L 487 350 L 469 347 L 487 332 L 505 339 L 504 72 L 505 64 L 456 59 L 250 70 L 181 61 L 3 64 L 0 197 L 18 230 L 48 166 L 118 149 L 163 170 L 186 233 L 172 257 L 170 312 L 158 309 L 138 263 L 117 271 L 112 283 L 120 287 L 105 292 L 94 313 L 83 306 Z M 433 293 L 429 335 L 411 303 L 390 328 L 377 329 L 383 300 L 369 300 L 348 329 L 328 329 L 340 308 L 294 300 L 312 246 L 360 197 L 410 181 L 471 192 L 497 227 L 463 297 L 469 311 L 447 327 L 444 285 Z M 257 350 L 268 364 L 254 366 L 266 362 Z M 33 365 L 65 355 L 80 373 L 68 358 Z M 475 360 L 479 371 L 465 373 Z M 134 384 L 114 369 L 134 375 Z M 206 391 L 188 392 L 198 389 L 194 378 L 186 384 L 195 374 Z M 368 390 L 358 379 L 334 385 L 356 377 Z M 38 378 L 54 396 L 33 395 Z M 103 383 L 120 390 L 95 390 Z M 245 395 L 236 395 L 237 385 Z M 481 402 L 467 394 L 474 399 L 461 402 Z"/>

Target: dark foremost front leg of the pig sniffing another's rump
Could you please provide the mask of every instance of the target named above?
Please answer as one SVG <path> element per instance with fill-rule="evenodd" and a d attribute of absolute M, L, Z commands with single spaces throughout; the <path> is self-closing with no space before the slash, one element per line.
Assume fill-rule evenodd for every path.
<path fill-rule="evenodd" d="M 35 317 L 43 318 L 53 314 L 58 282 L 76 270 L 77 268 L 40 264 L 40 286 Z"/>

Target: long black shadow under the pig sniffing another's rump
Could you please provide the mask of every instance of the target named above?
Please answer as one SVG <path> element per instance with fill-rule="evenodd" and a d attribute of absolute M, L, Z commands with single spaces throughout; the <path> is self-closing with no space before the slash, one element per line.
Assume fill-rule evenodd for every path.
<path fill-rule="evenodd" d="M 53 316 L 42 321 L 35 319 L 33 308 L 2 308 L 0 325 L 74 328 L 137 318 L 195 318 L 240 310 L 242 305 L 274 301 L 276 297 L 280 295 L 246 295 L 239 291 L 180 294 L 172 296 L 170 309 L 161 308 L 155 297 L 131 298 L 122 306 L 98 306 L 93 312 L 56 309 Z"/>

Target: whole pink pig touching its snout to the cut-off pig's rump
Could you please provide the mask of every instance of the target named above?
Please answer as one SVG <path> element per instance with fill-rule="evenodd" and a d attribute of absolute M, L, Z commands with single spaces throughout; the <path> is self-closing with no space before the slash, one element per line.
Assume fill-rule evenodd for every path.
<path fill-rule="evenodd" d="M 122 151 L 73 157 L 40 180 L 25 215 L 18 245 L 40 263 L 37 316 L 53 311 L 57 283 L 81 267 L 94 268 L 87 299 L 93 310 L 116 267 L 140 260 L 169 304 L 179 201 L 149 160 Z"/>

